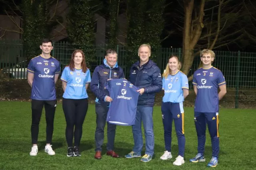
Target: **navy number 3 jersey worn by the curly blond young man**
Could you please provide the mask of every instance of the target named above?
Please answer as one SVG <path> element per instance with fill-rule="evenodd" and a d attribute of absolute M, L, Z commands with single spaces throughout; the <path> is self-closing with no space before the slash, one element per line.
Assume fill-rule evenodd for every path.
<path fill-rule="evenodd" d="M 215 67 L 209 69 L 199 68 L 194 72 L 193 85 L 197 88 L 195 112 L 218 112 L 218 87 L 226 84 L 220 70 Z"/>

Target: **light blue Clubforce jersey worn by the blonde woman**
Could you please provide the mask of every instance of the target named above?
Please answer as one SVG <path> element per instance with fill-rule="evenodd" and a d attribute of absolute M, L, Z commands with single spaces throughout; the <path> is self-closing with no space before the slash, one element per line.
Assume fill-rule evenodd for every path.
<path fill-rule="evenodd" d="M 169 74 L 162 80 L 164 90 L 163 102 L 180 103 L 184 101 L 183 89 L 188 89 L 188 78 L 180 70 L 174 74 Z"/>

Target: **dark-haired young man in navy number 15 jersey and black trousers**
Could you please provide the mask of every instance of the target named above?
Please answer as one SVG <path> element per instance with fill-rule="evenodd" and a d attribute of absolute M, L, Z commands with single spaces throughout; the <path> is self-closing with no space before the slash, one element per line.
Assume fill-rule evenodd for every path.
<path fill-rule="evenodd" d="M 44 151 L 49 155 L 55 154 L 51 143 L 54 113 L 57 106 L 55 83 L 60 74 L 60 63 L 50 55 L 53 49 L 50 39 L 43 39 L 40 49 L 42 54 L 31 59 L 27 69 L 28 84 L 32 88 L 30 96 L 32 99 L 32 149 L 30 156 L 36 156 L 38 153 L 37 140 L 43 107 L 46 116 L 46 146 Z"/>

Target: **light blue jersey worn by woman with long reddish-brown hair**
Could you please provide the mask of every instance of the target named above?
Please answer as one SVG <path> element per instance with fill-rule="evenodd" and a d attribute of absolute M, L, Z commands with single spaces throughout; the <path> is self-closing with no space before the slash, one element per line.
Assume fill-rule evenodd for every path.
<path fill-rule="evenodd" d="M 86 72 L 82 72 L 82 69 L 74 71 L 70 70 L 69 66 L 66 66 L 62 72 L 62 81 L 67 83 L 66 90 L 63 94 L 65 99 L 85 99 L 88 98 L 85 84 L 91 82 L 90 70 L 87 68 Z"/>

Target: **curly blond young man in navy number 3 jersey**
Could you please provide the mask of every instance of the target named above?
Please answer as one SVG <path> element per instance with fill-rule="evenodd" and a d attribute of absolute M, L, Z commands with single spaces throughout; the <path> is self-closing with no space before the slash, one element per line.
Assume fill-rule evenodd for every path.
<path fill-rule="evenodd" d="M 202 68 L 194 72 L 193 87 L 196 93 L 194 121 L 198 137 L 198 154 L 190 162 L 204 162 L 206 123 L 212 142 L 212 159 L 207 166 L 216 167 L 219 154 L 219 100 L 226 94 L 226 81 L 220 70 L 212 66 L 215 53 L 204 49 L 200 52 Z M 218 88 L 220 92 L 218 93 Z"/>

